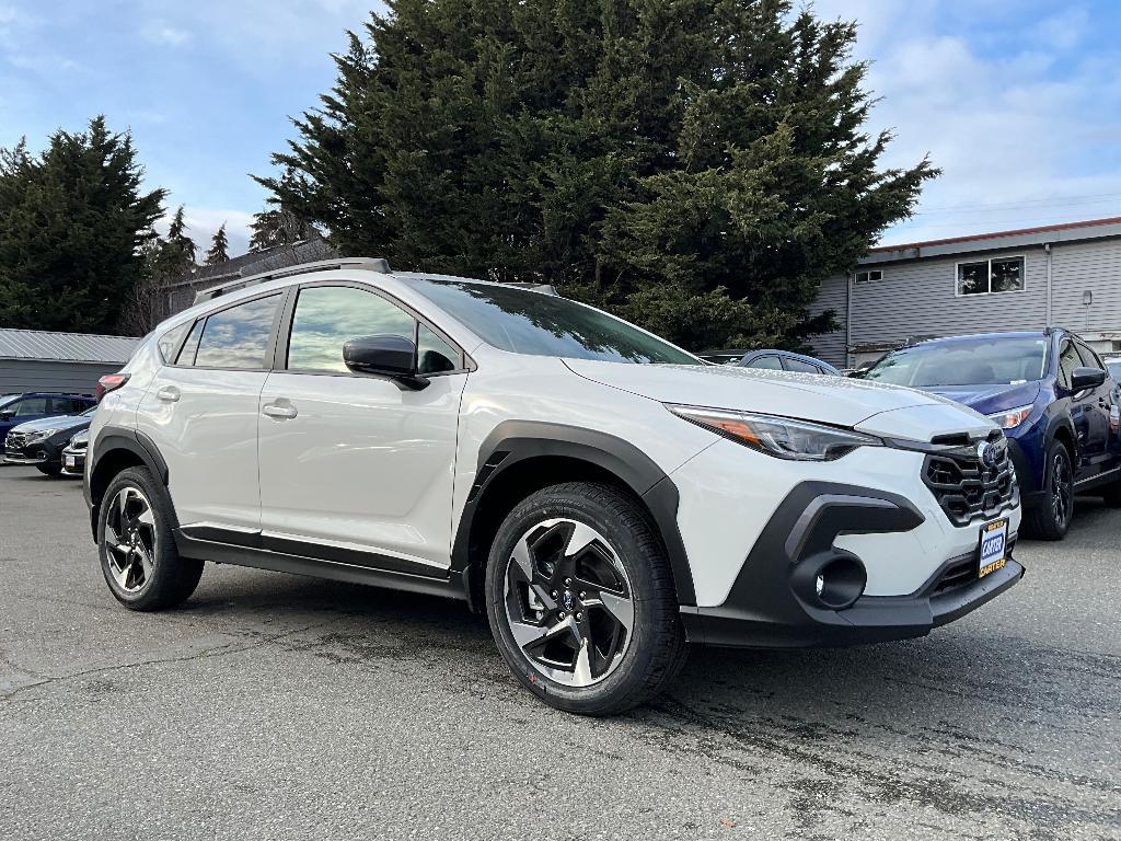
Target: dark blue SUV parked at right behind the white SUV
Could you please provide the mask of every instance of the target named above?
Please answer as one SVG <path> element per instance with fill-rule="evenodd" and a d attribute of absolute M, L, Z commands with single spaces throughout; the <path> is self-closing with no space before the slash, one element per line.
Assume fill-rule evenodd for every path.
<path fill-rule="evenodd" d="M 933 339 L 888 353 L 864 379 L 932 391 L 1000 424 L 1029 537 L 1062 539 L 1076 492 L 1121 506 L 1118 383 L 1067 330 Z"/>

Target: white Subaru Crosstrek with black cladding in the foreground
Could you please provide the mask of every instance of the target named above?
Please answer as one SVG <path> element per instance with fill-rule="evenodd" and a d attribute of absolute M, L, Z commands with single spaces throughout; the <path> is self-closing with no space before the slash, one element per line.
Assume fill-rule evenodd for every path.
<path fill-rule="evenodd" d="M 178 604 L 205 561 L 460 599 L 573 712 L 649 699 L 688 643 L 918 637 L 1023 573 L 971 409 L 383 260 L 201 293 L 101 391 L 86 500 L 123 604 Z"/>

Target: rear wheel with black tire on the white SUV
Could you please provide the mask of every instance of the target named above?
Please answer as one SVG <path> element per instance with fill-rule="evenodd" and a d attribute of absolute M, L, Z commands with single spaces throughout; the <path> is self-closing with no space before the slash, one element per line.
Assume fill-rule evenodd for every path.
<path fill-rule="evenodd" d="M 131 496 L 132 491 L 129 489 L 139 491 L 142 501 L 147 503 L 152 515 L 150 525 L 137 524 L 136 529 L 129 529 L 123 525 L 124 520 L 120 517 L 120 507 L 115 500 L 122 492 Z M 98 554 L 101 558 L 101 572 L 105 576 L 110 592 L 130 610 L 174 608 L 189 598 L 198 585 L 198 579 L 203 574 L 203 562 L 179 556 L 172 534 L 173 523 L 170 499 L 147 468 L 129 468 L 109 483 L 98 514 Z M 147 551 L 146 557 L 150 562 L 148 567 L 145 569 L 139 561 L 140 555 L 110 548 L 106 532 L 111 536 L 120 533 L 122 538 L 131 532 L 137 537 L 137 544 Z M 124 543 L 127 540 L 118 545 Z M 126 563 L 121 560 L 124 557 L 133 560 Z M 122 570 L 123 583 L 119 580 Z M 128 570 L 132 570 L 131 577 Z M 128 588 L 129 582 L 135 586 Z"/>

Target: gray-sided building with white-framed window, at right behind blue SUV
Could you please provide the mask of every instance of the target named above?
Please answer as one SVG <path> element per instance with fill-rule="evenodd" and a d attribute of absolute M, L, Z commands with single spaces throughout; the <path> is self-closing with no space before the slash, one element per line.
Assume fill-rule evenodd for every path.
<path fill-rule="evenodd" d="M 1048 324 L 1121 352 L 1121 218 L 873 248 L 822 284 L 814 314 L 841 329 L 812 339 L 839 368 L 908 339 Z"/>

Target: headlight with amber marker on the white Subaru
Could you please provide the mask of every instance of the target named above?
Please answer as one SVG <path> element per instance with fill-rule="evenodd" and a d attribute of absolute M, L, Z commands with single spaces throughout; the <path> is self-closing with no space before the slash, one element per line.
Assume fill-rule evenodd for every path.
<path fill-rule="evenodd" d="M 667 408 L 689 423 L 777 459 L 833 461 L 858 446 L 883 446 L 872 435 L 790 417 L 698 406 L 667 405 Z"/>

